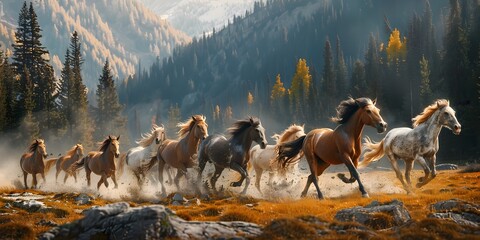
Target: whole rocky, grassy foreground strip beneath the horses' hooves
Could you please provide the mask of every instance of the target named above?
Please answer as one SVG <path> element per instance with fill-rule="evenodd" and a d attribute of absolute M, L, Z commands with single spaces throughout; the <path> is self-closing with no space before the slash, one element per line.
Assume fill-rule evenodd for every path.
<path fill-rule="evenodd" d="M 440 171 L 412 195 L 393 172 L 364 173 L 377 182 L 366 184 L 369 199 L 356 184 L 327 183 L 339 182 L 334 173 L 320 178 L 326 200 L 314 198 L 313 186 L 307 198 L 295 197 L 302 181 L 273 190 L 262 182 L 264 195 L 226 188 L 148 199 L 4 187 L 0 239 L 480 239 L 480 173 L 464 170 Z"/>

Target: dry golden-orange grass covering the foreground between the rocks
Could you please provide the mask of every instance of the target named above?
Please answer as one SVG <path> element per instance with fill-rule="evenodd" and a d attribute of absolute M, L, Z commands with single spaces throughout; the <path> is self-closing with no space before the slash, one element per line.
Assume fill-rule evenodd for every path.
<path fill-rule="evenodd" d="M 399 184 L 393 172 L 381 172 L 391 176 L 392 182 Z M 364 178 L 368 175 L 364 175 Z M 310 188 L 310 192 L 314 188 Z M 81 211 L 90 208 L 92 205 L 104 205 L 110 203 L 102 199 L 93 200 L 92 204 L 76 205 L 73 195 L 69 193 L 45 193 L 37 190 L 28 192 L 48 196 L 43 202 L 48 206 L 59 209 L 48 213 L 29 213 L 21 209 L 6 209 L 3 205 L 9 200 L 2 199 L 1 194 L 21 193 L 25 190 L 12 187 L 0 187 L 0 213 L 13 213 L 14 215 L 0 216 L 0 238 L 12 236 L 14 239 L 32 238 L 41 232 L 48 230 L 48 226 L 37 225 L 40 220 L 52 220 L 57 224 L 72 222 L 81 218 Z M 380 238 L 401 238 L 401 239 L 456 239 L 469 235 L 459 233 L 462 228 L 459 226 L 435 219 L 427 219 L 431 212 L 430 205 L 452 198 L 458 198 L 472 203 L 480 203 L 480 172 L 461 173 L 460 171 L 441 171 L 437 178 L 421 189 L 416 189 L 415 194 L 385 194 L 373 193 L 370 198 L 365 199 L 359 192 L 344 195 L 339 198 L 318 200 L 316 198 L 304 198 L 297 200 L 261 200 L 252 197 L 225 194 L 223 197 L 212 197 L 213 200 L 202 201 L 200 205 L 172 206 L 167 207 L 176 211 L 177 215 L 186 220 L 197 221 L 249 221 L 265 227 L 262 239 L 308 239 L 313 236 L 315 230 L 325 226 L 320 222 L 335 222 L 334 217 L 337 211 L 354 206 L 365 206 L 377 200 L 389 202 L 394 199 L 402 201 L 409 210 L 413 222 L 402 228 L 400 235 L 390 236 L 388 231 L 382 232 Z M 189 197 L 187 197 L 189 198 Z M 190 198 L 189 198 L 190 199 Z M 131 206 L 147 205 L 144 202 L 130 202 Z M 249 206 L 247 206 L 249 204 Z M 377 218 L 369 225 L 372 229 L 389 227 L 393 221 L 390 216 L 378 214 Z M 316 223 L 318 222 L 318 223 Z M 356 239 L 372 238 L 372 236 L 355 235 L 365 234 L 355 232 L 356 226 L 351 223 L 334 223 L 349 228 L 349 232 L 343 235 L 328 235 L 331 239 Z M 294 231 L 284 232 L 284 229 Z M 11 230 L 9 230 L 11 229 Z M 353 229 L 353 230 L 352 230 Z M 463 228 L 465 229 L 465 228 Z M 8 232 L 10 231 L 10 232 Z M 18 234 L 18 235 L 15 235 Z M 24 235 L 21 235 L 24 234 Z M 100 237 L 100 236 L 99 236 Z M 478 238 L 477 236 L 472 236 Z M 375 238 L 375 237 L 373 237 Z M 311 239 L 311 238 L 310 238 Z"/>

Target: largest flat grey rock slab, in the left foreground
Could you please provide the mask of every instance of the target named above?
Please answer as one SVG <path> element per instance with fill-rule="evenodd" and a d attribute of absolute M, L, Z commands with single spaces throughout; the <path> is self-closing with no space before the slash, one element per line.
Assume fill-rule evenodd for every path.
<path fill-rule="evenodd" d="M 260 235 L 258 225 L 246 222 L 185 221 L 162 205 L 131 208 L 119 202 L 84 211 L 85 217 L 54 227 L 40 239 L 215 239 Z"/>

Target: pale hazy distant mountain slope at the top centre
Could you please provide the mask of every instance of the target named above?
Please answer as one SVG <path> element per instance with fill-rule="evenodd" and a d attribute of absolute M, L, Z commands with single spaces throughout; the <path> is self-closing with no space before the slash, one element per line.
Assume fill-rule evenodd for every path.
<path fill-rule="evenodd" d="M 137 0 L 190 36 L 219 30 L 233 16 L 251 10 L 255 0 Z"/>

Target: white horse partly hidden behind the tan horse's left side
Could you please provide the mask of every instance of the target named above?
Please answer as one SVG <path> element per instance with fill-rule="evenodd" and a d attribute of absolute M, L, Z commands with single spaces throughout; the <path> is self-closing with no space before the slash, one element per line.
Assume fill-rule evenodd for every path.
<path fill-rule="evenodd" d="M 138 185 L 142 186 L 146 173 L 153 167 L 151 159 L 152 156 L 156 155 L 157 145 L 161 144 L 165 137 L 165 128 L 164 126 L 157 126 L 156 124 L 152 125 L 152 130 L 150 133 L 142 135 L 142 139 L 138 140 L 136 143 L 138 147 L 134 147 L 128 150 L 125 155 L 125 162 L 121 162 L 121 167 L 126 165 L 133 172 L 137 178 Z M 156 145 L 152 144 L 155 140 Z M 150 147 L 151 146 L 151 147 Z M 156 158 L 156 156 L 155 156 Z M 155 163 L 154 161 L 153 163 Z"/>

